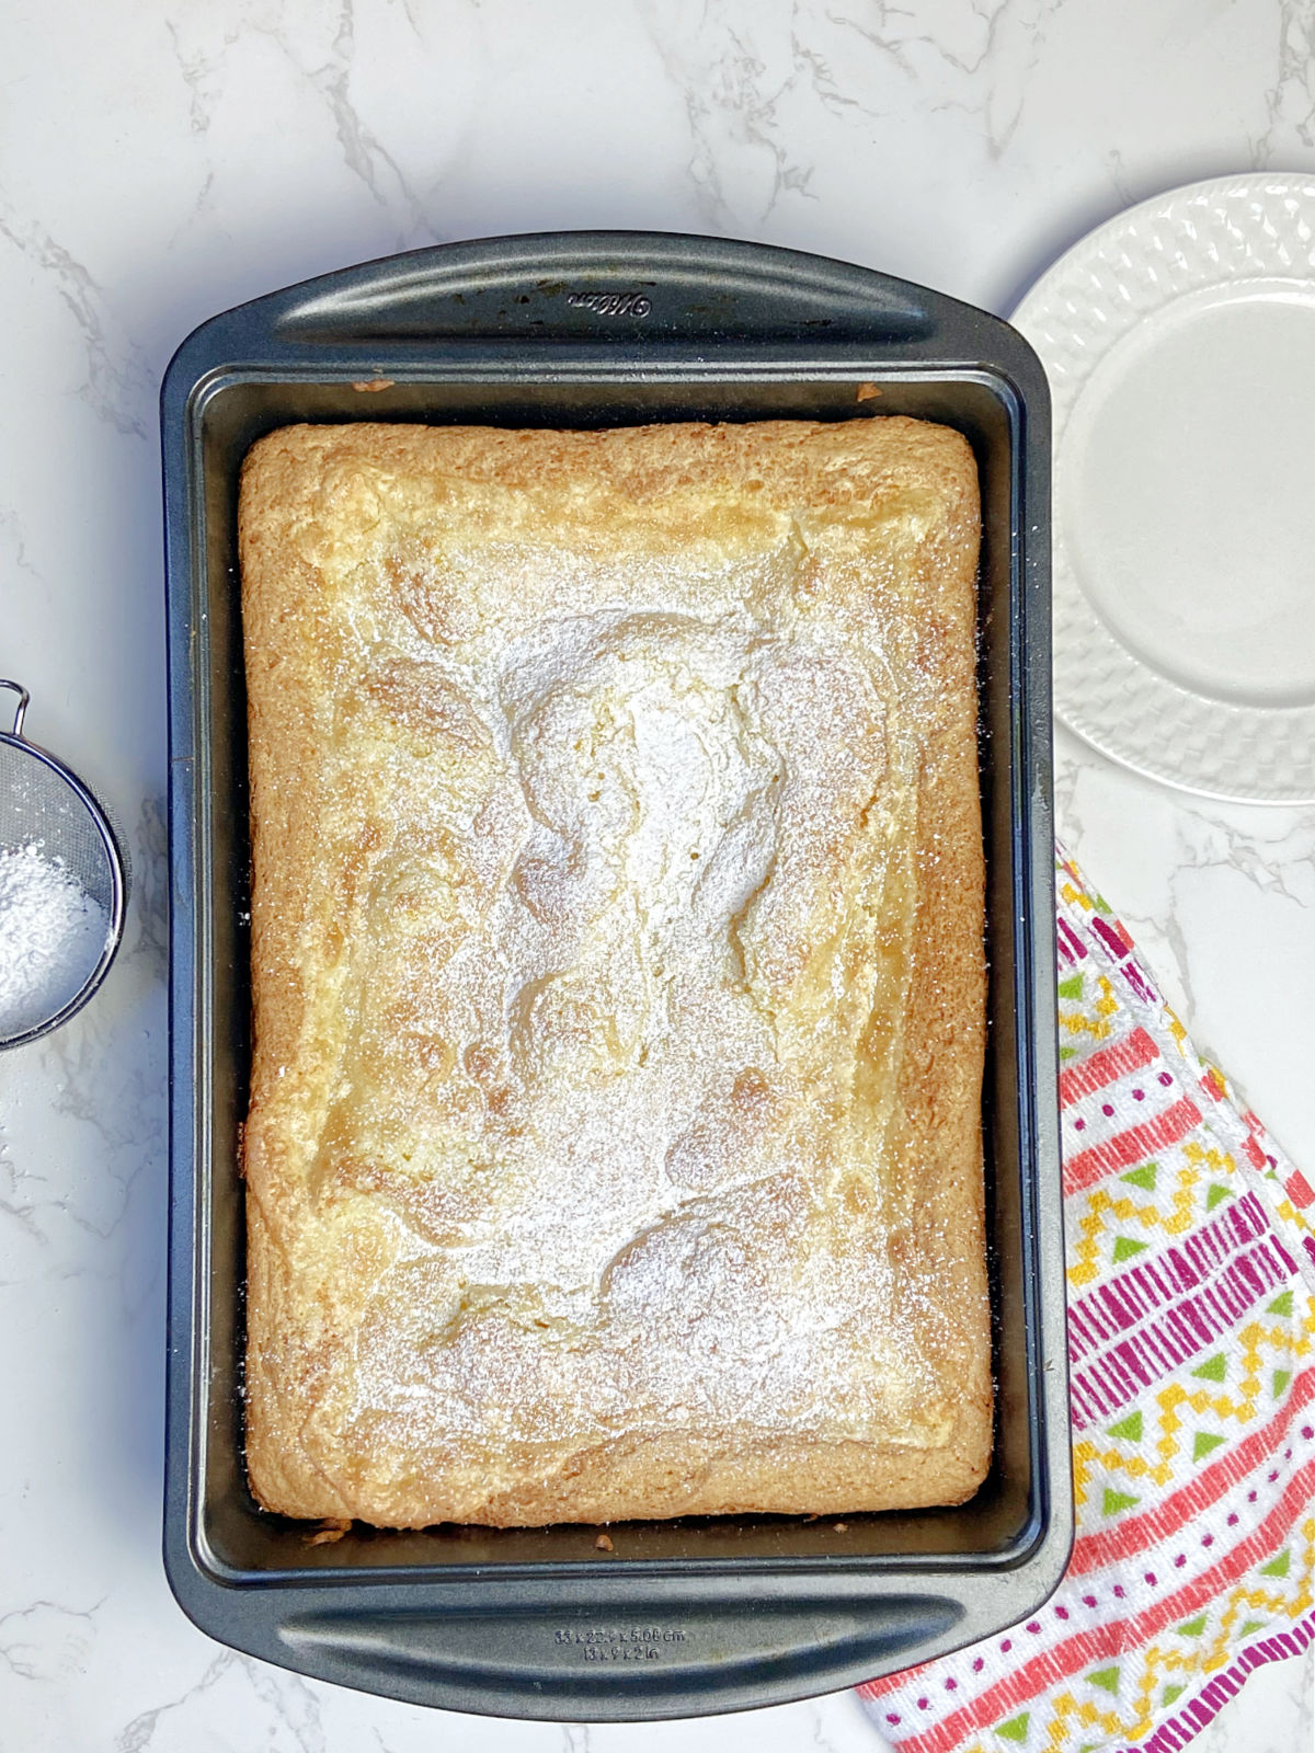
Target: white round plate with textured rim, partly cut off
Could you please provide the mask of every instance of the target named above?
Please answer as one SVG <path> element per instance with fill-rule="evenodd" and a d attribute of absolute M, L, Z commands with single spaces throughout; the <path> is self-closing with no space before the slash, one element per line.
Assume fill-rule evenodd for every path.
<path fill-rule="evenodd" d="M 1184 791 L 1313 801 L 1315 177 L 1143 202 L 1012 321 L 1054 394 L 1057 715 Z"/>

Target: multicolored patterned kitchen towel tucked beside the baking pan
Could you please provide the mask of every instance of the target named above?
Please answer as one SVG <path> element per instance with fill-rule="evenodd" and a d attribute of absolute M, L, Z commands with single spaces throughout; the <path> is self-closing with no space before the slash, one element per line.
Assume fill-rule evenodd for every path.
<path fill-rule="evenodd" d="M 1057 876 L 1078 1537 L 1033 1620 L 859 1688 L 899 1753 L 1171 1753 L 1315 1639 L 1315 1192 Z"/>

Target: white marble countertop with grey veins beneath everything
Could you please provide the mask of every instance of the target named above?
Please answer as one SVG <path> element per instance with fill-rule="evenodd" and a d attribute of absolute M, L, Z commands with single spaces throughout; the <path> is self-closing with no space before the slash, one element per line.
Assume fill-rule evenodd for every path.
<path fill-rule="evenodd" d="M 878 1748 L 852 1697 L 703 1723 L 426 1713 L 231 1655 L 160 1548 L 165 659 L 156 387 L 203 317 L 445 238 L 715 231 L 1008 310 L 1133 200 L 1315 168 L 1306 0 L 132 0 L 0 16 L 0 673 L 109 801 L 126 950 L 0 1061 L 0 1741 L 63 1753 Z M 1070 738 L 1059 820 L 1199 1045 L 1315 1164 L 1315 808 Z M 1198 1742 L 1310 1746 L 1310 1665 Z M 1304 1702 L 1303 1702 L 1304 1700 Z M 1241 1723 L 1245 1721 L 1245 1730 Z"/>

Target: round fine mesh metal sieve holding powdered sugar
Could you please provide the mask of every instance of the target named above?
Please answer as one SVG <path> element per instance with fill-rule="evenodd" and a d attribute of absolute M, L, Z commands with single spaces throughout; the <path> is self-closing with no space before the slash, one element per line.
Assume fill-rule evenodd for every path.
<path fill-rule="evenodd" d="M 123 936 L 126 869 L 86 785 L 28 742 L 18 694 L 0 731 L 0 1048 L 67 1022 L 105 978 Z M 103 927 L 103 929 L 102 929 Z"/>

